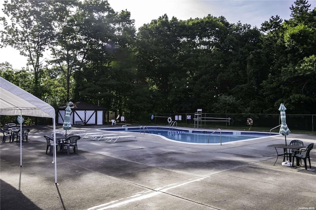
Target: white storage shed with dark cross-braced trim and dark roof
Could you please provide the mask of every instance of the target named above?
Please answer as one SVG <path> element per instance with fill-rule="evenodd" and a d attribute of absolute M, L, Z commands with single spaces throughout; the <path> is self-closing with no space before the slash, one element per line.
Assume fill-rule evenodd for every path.
<path fill-rule="evenodd" d="M 58 108 L 57 124 L 63 124 L 67 105 Z M 103 125 L 106 108 L 86 102 L 76 102 L 71 108 L 72 125 Z"/>

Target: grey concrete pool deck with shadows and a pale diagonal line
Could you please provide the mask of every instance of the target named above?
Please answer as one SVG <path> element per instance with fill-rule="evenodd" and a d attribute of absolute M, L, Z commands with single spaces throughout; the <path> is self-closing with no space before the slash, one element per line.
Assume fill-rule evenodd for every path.
<path fill-rule="evenodd" d="M 119 128 L 119 126 L 118 126 Z M 82 127 L 88 132 L 100 127 Z M 268 137 L 223 145 L 186 144 L 135 133 L 137 141 L 79 140 L 79 154 L 45 154 L 49 127 L 23 142 L 1 142 L 0 210 L 308 210 L 316 209 L 312 169 L 281 166 Z M 104 132 L 113 133 L 113 132 Z M 120 135 L 126 135 L 121 133 Z M 2 137 L 1 137 L 2 139 Z M 307 146 L 316 135 L 293 134 Z M 315 145 L 316 146 L 316 145 Z"/>

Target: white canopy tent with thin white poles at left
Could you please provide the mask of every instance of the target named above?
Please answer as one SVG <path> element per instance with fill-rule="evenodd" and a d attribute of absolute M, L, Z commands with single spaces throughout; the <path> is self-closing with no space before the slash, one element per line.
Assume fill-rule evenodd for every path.
<path fill-rule="evenodd" d="M 56 135 L 55 135 L 55 109 L 33 96 L 27 91 L 19 88 L 11 82 L 0 77 L 0 115 L 22 115 L 48 117 L 53 119 L 54 131 L 54 163 L 55 163 L 55 184 L 57 184 L 57 163 L 56 163 Z M 22 130 L 22 123 L 20 123 Z M 22 132 L 21 136 L 22 136 Z M 20 136 L 20 166 L 22 167 L 22 137 Z"/>

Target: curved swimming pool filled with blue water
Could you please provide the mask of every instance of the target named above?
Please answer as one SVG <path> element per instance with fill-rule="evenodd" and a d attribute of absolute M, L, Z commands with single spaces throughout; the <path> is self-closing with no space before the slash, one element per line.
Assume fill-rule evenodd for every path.
<path fill-rule="evenodd" d="M 188 130 L 184 128 L 173 128 L 172 130 L 167 127 L 125 127 L 125 128 L 111 128 L 101 129 L 103 131 L 119 131 L 119 132 L 135 132 L 159 135 L 165 140 L 174 140 L 184 143 L 198 143 L 198 144 L 218 144 L 221 143 L 220 131 L 211 134 L 213 131 L 205 130 Z M 222 143 L 232 143 L 235 141 L 254 140 L 260 138 L 267 138 L 270 133 L 267 132 L 248 132 L 248 131 L 221 131 Z M 211 135 L 210 135 L 211 134 Z M 271 135 L 280 135 L 278 133 L 271 133 Z"/>

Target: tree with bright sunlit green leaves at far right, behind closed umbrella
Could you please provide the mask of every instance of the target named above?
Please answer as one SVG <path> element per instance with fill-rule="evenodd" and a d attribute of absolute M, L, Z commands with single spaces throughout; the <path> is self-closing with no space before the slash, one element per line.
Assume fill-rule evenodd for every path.
<path fill-rule="evenodd" d="M 285 103 L 290 113 L 313 113 L 316 11 L 309 7 L 308 1 L 296 0 L 290 7 L 292 18 L 265 37 L 264 51 L 271 66 L 262 83 L 263 94 L 267 104 L 274 104 L 267 112 Z"/>

